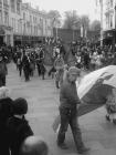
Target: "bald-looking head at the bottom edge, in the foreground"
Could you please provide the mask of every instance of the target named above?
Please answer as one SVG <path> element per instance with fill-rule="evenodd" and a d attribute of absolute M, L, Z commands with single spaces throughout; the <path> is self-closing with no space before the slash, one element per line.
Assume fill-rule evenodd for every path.
<path fill-rule="evenodd" d="M 20 155 L 49 155 L 49 146 L 40 136 L 29 136 L 21 145 Z"/>

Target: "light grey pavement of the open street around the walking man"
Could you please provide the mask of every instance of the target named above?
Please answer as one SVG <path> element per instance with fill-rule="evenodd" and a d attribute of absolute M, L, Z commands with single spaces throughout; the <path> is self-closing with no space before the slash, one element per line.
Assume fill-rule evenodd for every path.
<path fill-rule="evenodd" d="M 28 100 L 29 112 L 25 117 L 34 134 L 42 136 L 49 144 L 50 155 L 77 155 L 70 127 L 65 140 L 70 148 L 62 151 L 56 146 L 56 133 L 52 124 L 59 114 L 59 90 L 55 89 L 54 80 L 48 75 L 42 80 L 35 71 L 31 81 L 24 82 L 13 63 L 8 65 L 8 72 L 7 86 L 11 97 Z M 78 118 L 83 141 L 91 147 L 87 155 L 116 155 L 116 126 L 105 120 L 105 107 L 101 107 Z"/>

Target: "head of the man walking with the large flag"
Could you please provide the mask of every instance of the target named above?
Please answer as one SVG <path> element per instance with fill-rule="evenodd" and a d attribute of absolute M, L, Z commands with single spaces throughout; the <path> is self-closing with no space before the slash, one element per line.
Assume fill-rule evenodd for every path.
<path fill-rule="evenodd" d="M 75 82 L 81 74 L 81 70 L 76 66 L 71 66 L 67 72 L 67 79 L 70 82 Z"/>

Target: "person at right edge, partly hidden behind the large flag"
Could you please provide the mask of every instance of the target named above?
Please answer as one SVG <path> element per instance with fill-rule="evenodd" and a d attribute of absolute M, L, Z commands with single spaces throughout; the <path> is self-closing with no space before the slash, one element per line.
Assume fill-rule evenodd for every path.
<path fill-rule="evenodd" d="M 107 96 L 106 110 L 106 120 L 116 124 L 116 89 L 113 89 L 112 93 Z"/>

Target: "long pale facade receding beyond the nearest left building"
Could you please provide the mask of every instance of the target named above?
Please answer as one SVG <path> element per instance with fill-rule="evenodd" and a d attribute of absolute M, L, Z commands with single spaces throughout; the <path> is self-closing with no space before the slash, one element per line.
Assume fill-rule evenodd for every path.
<path fill-rule="evenodd" d="M 39 43 L 45 37 L 52 37 L 52 22 L 51 18 L 39 11 L 39 9 L 33 9 L 30 3 L 22 4 L 22 14 L 20 22 L 22 42 L 24 43 Z"/>

